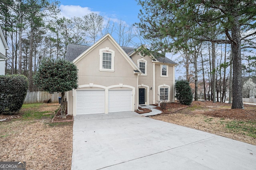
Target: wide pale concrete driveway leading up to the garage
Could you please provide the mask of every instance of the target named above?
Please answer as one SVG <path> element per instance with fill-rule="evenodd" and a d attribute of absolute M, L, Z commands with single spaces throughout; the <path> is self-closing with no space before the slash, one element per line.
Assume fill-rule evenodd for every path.
<path fill-rule="evenodd" d="M 74 117 L 72 170 L 256 170 L 256 146 L 127 111 Z"/>

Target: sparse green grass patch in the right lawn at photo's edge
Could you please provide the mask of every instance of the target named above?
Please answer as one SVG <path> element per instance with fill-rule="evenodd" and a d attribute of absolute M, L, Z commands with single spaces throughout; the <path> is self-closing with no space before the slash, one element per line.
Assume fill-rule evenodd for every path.
<path fill-rule="evenodd" d="M 226 128 L 256 138 L 256 121 L 229 121 L 226 122 Z"/>

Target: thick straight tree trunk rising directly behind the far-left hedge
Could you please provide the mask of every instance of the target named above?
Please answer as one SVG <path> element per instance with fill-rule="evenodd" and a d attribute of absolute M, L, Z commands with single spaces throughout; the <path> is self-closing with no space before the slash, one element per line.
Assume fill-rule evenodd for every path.
<path fill-rule="evenodd" d="M 18 30 L 19 30 L 19 70 L 18 74 L 22 74 L 22 14 L 21 14 L 21 7 L 20 7 L 21 0 L 18 0 Z"/>

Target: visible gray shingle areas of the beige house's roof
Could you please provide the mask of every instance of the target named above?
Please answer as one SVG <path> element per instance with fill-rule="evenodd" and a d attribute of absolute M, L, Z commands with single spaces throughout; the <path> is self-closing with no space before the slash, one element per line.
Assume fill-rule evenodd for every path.
<path fill-rule="evenodd" d="M 66 53 L 66 60 L 73 61 L 86 51 L 90 46 L 86 45 L 76 45 L 76 44 L 68 44 L 67 53 Z M 135 48 L 131 47 L 121 47 L 126 54 L 130 55 L 134 52 Z M 154 52 L 154 57 L 161 63 L 168 63 L 168 64 L 177 64 L 174 61 L 168 59 L 167 57 L 162 57 L 160 53 Z"/>

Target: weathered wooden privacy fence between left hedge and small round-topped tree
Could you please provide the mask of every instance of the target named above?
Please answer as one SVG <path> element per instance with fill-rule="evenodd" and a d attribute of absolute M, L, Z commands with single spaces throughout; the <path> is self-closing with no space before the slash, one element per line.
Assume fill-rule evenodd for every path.
<path fill-rule="evenodd" d="M 61 93 L 50 94 L 48 92 L 27 92 L 23 104 L 43 103 L 46 99 L 51 99 L 51 103 L 58 103 Z"/>

